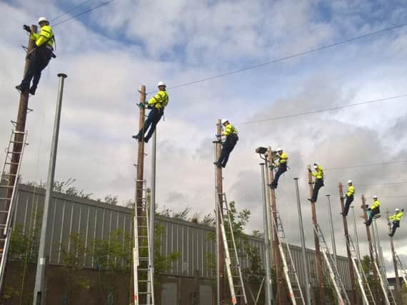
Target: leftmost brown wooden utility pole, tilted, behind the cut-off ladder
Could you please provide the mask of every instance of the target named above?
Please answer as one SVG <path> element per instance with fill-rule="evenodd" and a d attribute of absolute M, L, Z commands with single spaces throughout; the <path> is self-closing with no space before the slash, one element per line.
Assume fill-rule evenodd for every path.
<path fill-rule="evenodd" d="M 36 32 L 37 27 L 35 25 L 31 26 L 31 31 Z M 30 52 L 34 51 L 34 46 L 35 46 L 35 41 L 32 40 L 31 38 L 29 39 L 29 44 L 27 46 L 27 54 Z M 26 75 L 26 71 L 29 69 L 29 64 L 30 61 L 28 58 L 26 58 L 26 63 L 24 66 L 24 74 Z M 11 198 L 14 196 L 16 193 L 16 179 L 18 179 L 18 174 L 19 174 L 19 169 L 21 165 L 21 157 L 22 157 L 22 151 L 24 149 L 25 141 L 26 141 L 26 116 L 28 113 L 28 105 L 29 105 L 29 91 L 22 91 L 20 94 L 20 100 L 19 100 L 19 110 L 17 114 L 17 121 L 12 121 L 12 123 L 15 126 L 15 130 L 13 131 L 13 134 L 11 135 L 11 141 L 10 144 L 12 145 L 12 149 L 10 149 L 11 155 L 10 155 L 10 160 L 7 161 L 5 160 L 4 164 L 9 163 L 7 165 L 9 168 L 9 173 L 8 173 L 8 178 L 5 179 L 4 176 L 1 176 L 1 188 L 6 189 L 5 191 L 5 200 L 4 200 L 4 206 L 1 207 L 1 209 L 9 210 L 10 205 L 11 205 Z M 6 166 L 5 166 L 6 169 Z M 3 174 L 3 173 L 2 173 Z M 4 181 L 6 180 L 6 181 Z M 4 268 L 6 265 L 6 259 L 7 259 L 7 253 L 5 243 L 4 241 L 6 240 L 6 222 L 7 219 L 9 218 L 8 214 L 1 214 L 0 216 L 0 229 L 2 230 L 1 232 L 1 239 L 0 239 L 0 252 L 1 252 L 1 260 L 3 262 L 3 266 L 1 269 L 1 274 L 0 274 L 0 290 L 2 289 L 2 279 L 4 276 Z M 4 230 L 4 231 L 3 231 Z"/>

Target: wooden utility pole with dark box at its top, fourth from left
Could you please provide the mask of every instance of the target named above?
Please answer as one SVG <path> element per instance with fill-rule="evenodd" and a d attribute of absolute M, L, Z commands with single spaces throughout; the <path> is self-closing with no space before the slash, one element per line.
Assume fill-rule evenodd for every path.
<path fill-rule="evenodd" d="M 268 176 L 270 182 L 272 183 L 274 180 L 274 172 L 273 172 L 273 151 L 271 147 L 268 147 L 267 150 L 267 164 L 268 164 Z M 274 224 L 277 223 L 277 204 L 276 204 L 276 192 L 274 189 L 270 189 L 268 194 L 270 195 L 270 202 L 271 202 L 271 217 L 273 219 L 273 223 L 271 224 L 272 231 L 273 231 L 273 266 L 276 268 L 276 279 L 277 279 L 277 297 L 276 301 L 278 305 L 286 304 L 286 294 L 285 294 L 285 284 L 283 281 L 283 269 L 282 269 L 282 261 L 280 256 L 280 251 L 278 250 L 279 242 L 278 242 L 278 233 L 274 228 Z"/>

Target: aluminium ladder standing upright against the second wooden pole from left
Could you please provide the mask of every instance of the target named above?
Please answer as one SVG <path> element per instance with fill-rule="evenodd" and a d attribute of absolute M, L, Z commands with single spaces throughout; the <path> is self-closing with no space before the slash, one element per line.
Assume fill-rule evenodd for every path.
<path fill-rule="evenodd" d="M 145 183 L 143 181 L 142 206 L 134 206 L 134 305 L 154 305 L 154 273 L 151 268 L 149 207 Z"/>

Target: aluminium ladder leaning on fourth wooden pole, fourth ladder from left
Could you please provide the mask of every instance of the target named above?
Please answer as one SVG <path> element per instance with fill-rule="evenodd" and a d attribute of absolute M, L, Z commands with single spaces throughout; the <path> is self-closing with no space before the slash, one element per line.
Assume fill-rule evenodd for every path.
<path fill-rule="evenodd" d="M 288 291 L 290 292 L 290 299 L 293 305 L 303 304 L 306 302 L 303 298 L 303 292 L 301 291 L 300 281 L 298 280 L 298 274 L 296 266 L 293 262 L 293 256 L 291 256 L 290 247 L 286 239 L 286 233 L 281 223 L 280 215 L 278 212 L 273 217 L 273 226 L 277 232 L 278 249 L 280 250 L 281 260 L 283 261 L 283 271 L 286 276 L 286 284 Z"/>

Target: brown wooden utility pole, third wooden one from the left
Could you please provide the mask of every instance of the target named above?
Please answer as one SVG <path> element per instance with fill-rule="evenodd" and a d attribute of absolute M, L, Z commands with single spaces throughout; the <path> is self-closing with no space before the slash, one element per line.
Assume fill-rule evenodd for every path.
<path fill-rule="evenodd" d="M 216 134 L 222 134 L 222 121 L 221 119 L 218 119 L 218 123 L 216 124 Z M 221 156 L 222 152 L 222 145 L 221 141 L 218 141 L 216 143 L 216 161 L 219 159 Z M 219 301 L 221 304 L 225 301 L 225 253 L 224 253 L 224 248 L 223 248 L 223 242 L 222 242 L 222 231 L 221 231 L 221 213 L 223 209 L 223 177 L 222 177 L 222 167 L 221 166 L 216 166 L 216 194 L 218 196 L 218 202 L 220 209 L 217 209 L 218 211 L 218 286 L 219 286 Z"/>

